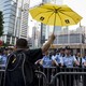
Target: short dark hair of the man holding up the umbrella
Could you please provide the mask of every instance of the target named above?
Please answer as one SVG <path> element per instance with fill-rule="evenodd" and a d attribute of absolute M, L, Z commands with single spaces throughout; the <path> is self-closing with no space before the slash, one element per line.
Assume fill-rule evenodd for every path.
<path fill-rule="evenodd" d="M 17 48 L 27 48 L 28 47 L 28 42 L 26 39 L 18 39 L 16 41 L 16 47 Z"/>

